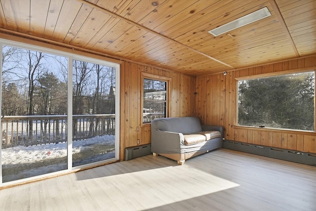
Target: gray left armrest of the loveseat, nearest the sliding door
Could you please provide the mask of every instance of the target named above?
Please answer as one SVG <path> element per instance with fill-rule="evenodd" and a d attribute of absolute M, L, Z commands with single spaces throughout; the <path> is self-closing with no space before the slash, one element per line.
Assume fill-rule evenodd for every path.
<path fill-rule="evenodd" d="M 180 153 L 180 145 L 184 144 L 182 133 L 162 130 L 152 131 L 152 152 L 154 153 Z"/>

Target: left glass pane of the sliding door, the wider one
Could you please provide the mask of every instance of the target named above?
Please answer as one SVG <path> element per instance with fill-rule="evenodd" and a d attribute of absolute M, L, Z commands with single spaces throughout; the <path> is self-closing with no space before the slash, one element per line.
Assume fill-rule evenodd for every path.
<path fill-rule="evenodd" d="M 67 169 L 68 59 L 2 46 L 2 182 Z"/>

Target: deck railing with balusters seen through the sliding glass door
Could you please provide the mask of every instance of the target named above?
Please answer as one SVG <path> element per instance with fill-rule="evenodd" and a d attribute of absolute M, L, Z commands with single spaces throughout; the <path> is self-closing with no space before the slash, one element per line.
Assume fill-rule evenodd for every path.
<path fill-rule="evenodd" d="M 67 140 L 67 115 L 4 116 L 2 148 L 60 143 Z M 73 140 L 115 134 L 115 115 L 73 115 Z"/>

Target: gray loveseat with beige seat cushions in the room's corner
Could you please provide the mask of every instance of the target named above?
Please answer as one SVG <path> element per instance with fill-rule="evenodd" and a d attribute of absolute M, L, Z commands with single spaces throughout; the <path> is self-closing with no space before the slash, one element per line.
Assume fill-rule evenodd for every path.
<path fill-rule="evenodd" d="M 223 127 L 201 125 L 197 117 L 160 118 L 152 121 L 152 153 L 186 159 L 218 149 L 223 144 Z"/>

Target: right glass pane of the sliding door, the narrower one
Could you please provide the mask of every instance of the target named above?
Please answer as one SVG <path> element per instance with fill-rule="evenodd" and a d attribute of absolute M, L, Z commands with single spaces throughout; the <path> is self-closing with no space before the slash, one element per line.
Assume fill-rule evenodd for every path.
<path fill-rule="evenodd" d="M 73 61 L 73 166 L 115 157 L 116 69 Z"/>

